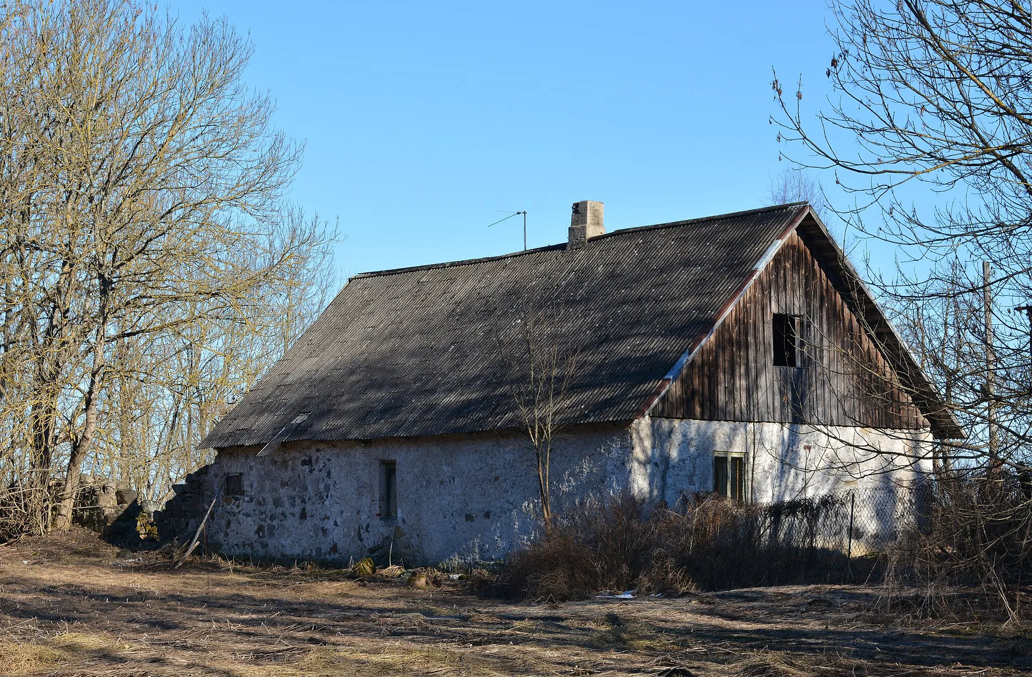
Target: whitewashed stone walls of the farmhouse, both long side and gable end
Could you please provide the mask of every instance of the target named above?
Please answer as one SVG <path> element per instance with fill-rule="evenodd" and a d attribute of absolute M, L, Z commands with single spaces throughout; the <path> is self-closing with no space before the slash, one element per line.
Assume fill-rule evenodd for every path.
<path fill-rule="evenodd" d="M 780 424 L 644 418 L 584 426 L 556 441 L 553 509 L 628 488 L 674 505 L 712 489 L 714 451 L 744 452 L 753 501 L 909 482 L 930 470 L 927 431 L 804 429 Z M 869 445 L 860 452 L 857 445 Z M 227 554 L 347 563 L 370 554 L 407 565 L 495 560 L 538 528 L 534 454 L 517 433 L 372 442 L 298 442 L 220 450 L 207 492 L 243 475 L 217 504 L 208 544 Z M 877 451 L 888 452 L 878 453 Z M 904 456 L 923 456 L 901 463 Z M 381 462 L 397 472 L 396 519 L 378 516 Z M 209 496 L 212 494 L 208 494 Z"/>

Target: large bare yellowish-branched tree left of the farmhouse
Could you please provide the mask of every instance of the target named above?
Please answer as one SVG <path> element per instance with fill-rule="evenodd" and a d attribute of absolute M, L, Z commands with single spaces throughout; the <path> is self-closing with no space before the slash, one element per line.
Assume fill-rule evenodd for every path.
<path fill-rule="evenodd" d="M 51 526 L 55 470 L 62 529 L 99 441 L 121 459 L 148 444 L 124 439 L 148 387 L 164 383 L 155 397 L 200 415 L 190 439 L 221 413 L 226 400 L 189 379 L 218 356 L 223 379 L 203 387 L 246 387 L 255 374 L 239 378 L 235 362 L 282 351 L 265 337 L 296 331 L 283 329 L 284 311 L 310 296 L 330 238 L 284 209 L 301 148 L 272 127 L 269 97 L 241 83 L 252 47 L 224 20 L 184 29 L 137 0 L 29 0 L 6 12 L 0 471 L 35 497 L 38 531 Z M 176 361 L 190 367 L 179 392 Z"/>

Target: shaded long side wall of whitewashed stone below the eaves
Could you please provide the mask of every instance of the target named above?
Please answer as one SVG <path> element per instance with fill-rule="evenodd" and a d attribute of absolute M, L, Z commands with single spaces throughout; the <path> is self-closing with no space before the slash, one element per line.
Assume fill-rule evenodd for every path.
<path fill-rule="evenodd" d="M 534 452 L 514 433 L 373 442 L 298 442 L 220 450 L 209 492 L 240 473 L 244 496 L 225 497 L 208 543 L 236 556 L 369 556 L 407 565 L 494 560 L 531 535 L 539 496 Z M 553 509 L 626 483 L 631 435 L 620 426 L 572 430 L 552 455 Z M 381 462 L 396 464 L 397 518 L 377 516 Z"/>

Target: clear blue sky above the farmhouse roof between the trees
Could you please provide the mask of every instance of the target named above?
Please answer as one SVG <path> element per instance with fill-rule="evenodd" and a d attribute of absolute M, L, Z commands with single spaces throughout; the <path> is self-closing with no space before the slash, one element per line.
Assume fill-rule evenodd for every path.
<path fill-rule="evenodd" d="M 341 272 L 761 206 L 778 162 L 771 68 L 817 104 L 824 0 L 784 3 L 173 2 L 250 32 L 250 86 L 307 142 L 292 199 L 340 218 Z"/>

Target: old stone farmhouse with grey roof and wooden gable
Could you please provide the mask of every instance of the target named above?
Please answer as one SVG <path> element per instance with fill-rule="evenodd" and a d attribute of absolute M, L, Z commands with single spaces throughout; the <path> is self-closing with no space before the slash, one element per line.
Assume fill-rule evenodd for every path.
<path fill-rule="evenodd" d="M 407 565 L 511 551 L 539 488 L 498 337 L 530 293 L 577 343 L 555 511 L 616 492 L 891 492 L 963 435 L 809 205 L 606 233 L 583 201 L 568 242 L 349 279 L 204 440 L 218 454 L 190 494 L 199 513 L 217 499 L 208 545 Z"/>

